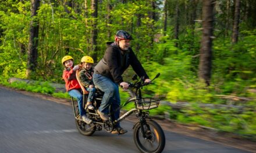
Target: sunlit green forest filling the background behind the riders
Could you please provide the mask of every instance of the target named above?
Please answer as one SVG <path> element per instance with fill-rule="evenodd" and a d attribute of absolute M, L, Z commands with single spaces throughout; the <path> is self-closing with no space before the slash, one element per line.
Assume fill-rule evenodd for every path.
<path fill-rule="evenodd" d="M 144 93 L 187 104 L 179 110 L 163 104 L 152 113 L 256 140 L 255 9 L 254 0 L 1 1 L 0 83 L 10 86 L 10 77 L 64 83 L 63 56 L 79 64 L 88 55 L 97 63 L 106 42 L 126 30 L 148 75 L 161 74 Z M 123 77 L 129 82 L 133 74 L 129 68 Z M 26 86 L 18 84 L 12 86 Z M 33 86 L 65 94 L 48 83 Z"/>

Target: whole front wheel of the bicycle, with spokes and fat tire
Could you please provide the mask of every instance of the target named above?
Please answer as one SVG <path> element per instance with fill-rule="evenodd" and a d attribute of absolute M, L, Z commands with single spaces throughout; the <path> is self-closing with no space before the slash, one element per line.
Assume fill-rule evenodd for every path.
<path fill-rule="evenodd" d="M 133 140 L 141 152 L 157 153 L 165 148 L 165 134 L 161 126 L 153 120 L 137 123 L 133 130 Z M 143 134 L 144 131 L 144 134 Z"/>

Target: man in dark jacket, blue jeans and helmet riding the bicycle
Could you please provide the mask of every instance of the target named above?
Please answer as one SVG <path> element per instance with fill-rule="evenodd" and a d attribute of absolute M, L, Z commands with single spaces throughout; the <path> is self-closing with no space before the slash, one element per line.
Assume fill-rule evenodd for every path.
<path fill-rule="evenodd" d="M 94 68 L 93 82 L 102 92 L 101 106 L 97 110 L 102 120 L 109 119 L 109 106 L 112 106 L 114 114 L 113 121 L 119 118 L 120 114 L 120 95 L 118 85 L 123 89 L 129 87 L 128 83 L 123 81 L 123 72 L 131 65 L 139 77 L 145 78 L 145 82 L 150 82 L 140 61 L 138 61 L 133 50 L 130 48 L 131 35 L 123 30 L 119 30 L 115 35 L 115 42 L 108 42 L 104 57 Z M 127 130 L 120 127 L 120 123 L 114 127 L 112 134 L 124 134 Z"/>

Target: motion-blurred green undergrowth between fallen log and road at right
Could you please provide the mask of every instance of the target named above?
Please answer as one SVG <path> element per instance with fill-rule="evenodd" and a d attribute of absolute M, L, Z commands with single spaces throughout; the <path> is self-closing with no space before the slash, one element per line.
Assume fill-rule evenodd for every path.
<path fill-rule="evenodd" d="M 170 111 L 170 118 L 181 123 L 208 126 L 256 140 L 255 107 L 248 108 L 245 107 L 243 112 L 240 112 L 235 108 L 202 108 L 192 104 L 181 111 Z"/>

